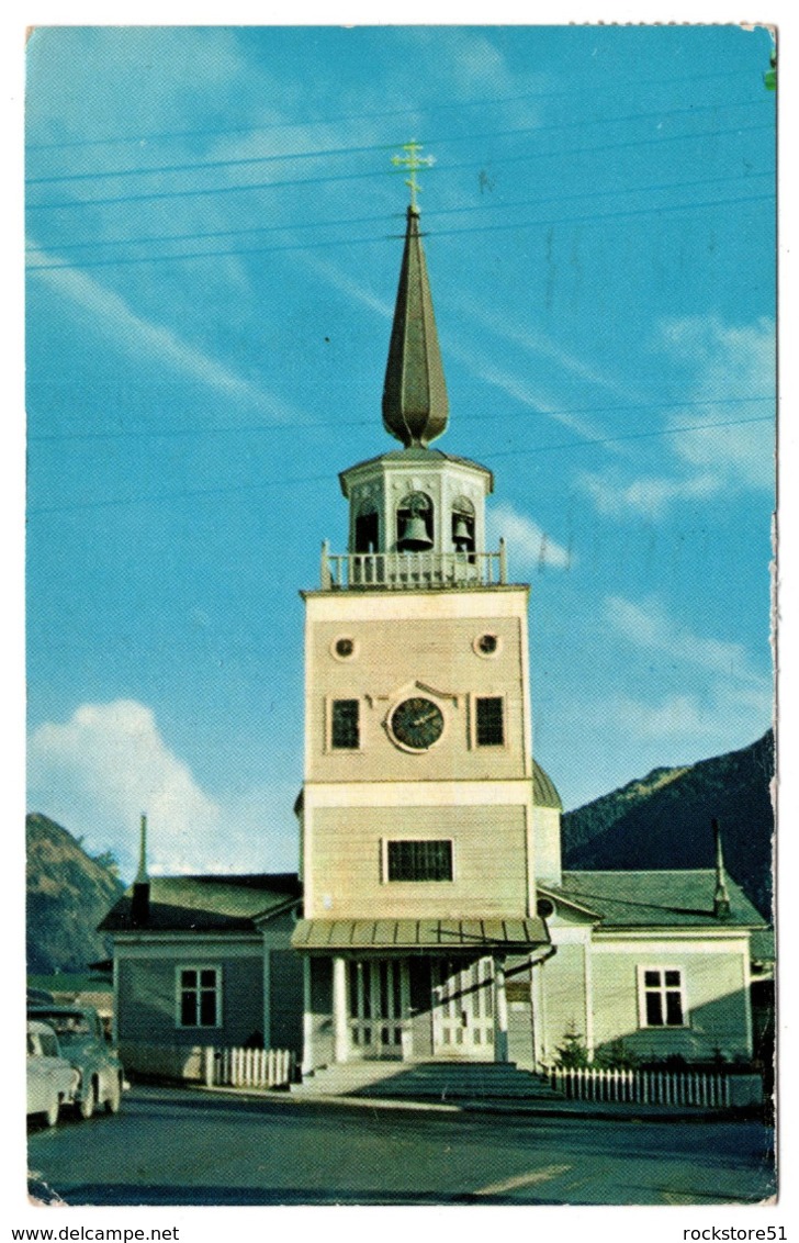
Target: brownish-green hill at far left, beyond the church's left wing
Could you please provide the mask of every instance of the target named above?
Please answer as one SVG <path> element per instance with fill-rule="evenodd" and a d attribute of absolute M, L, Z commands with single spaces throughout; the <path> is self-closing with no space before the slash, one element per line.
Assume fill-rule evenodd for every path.
<path fill-rule="evenodd" d="M 109 955 L 109 943 L 96 930 L 123 891 L 113 859 L 92 859 L 46 815 L 27 815 L 25 827 L 27 972 L 84 971 Z"/>

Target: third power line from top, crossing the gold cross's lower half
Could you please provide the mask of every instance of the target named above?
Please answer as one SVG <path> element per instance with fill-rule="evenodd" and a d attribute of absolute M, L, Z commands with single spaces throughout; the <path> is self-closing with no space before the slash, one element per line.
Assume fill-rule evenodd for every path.
<path fill-rule="evenodd" d="M 583 155 L 583 154 L 593 155 L 599 152 L 625 150 L 631 147 L 651 147 L 651 145 L 661 145 L 665 143 L 690 142 L 691 139 L 700 139 L 700 138 L 718 138 L 723 134 L 753 133 L 762 129 L 769 129 L 773 132 L 774 127 L 770 122 L 763 122 L 756 126 L 733 126 L 729 129 L 716 128 L 701 132 L 693 131 L 692 133 L 688 134 L 669 134 L 665 137 L 659 135 L 657 138 L 639 138 L 639 139 L 630 139 L 623 143 L 603 143 L 600 145 L 593 144 L 591 147 L 577 147 L 572 149 L 560 148 L 553 152 L 532 152 L 532 153 L 526 152 L 522 155 L 503 155 L 498 159 L 492 159 L 491 163 L 493 167 L 495 164 L 512 164 L 512 163 L 518 163 L 519 160 L 555 159 L 555 158 L 563 159 L 565 157 L 572 157 L 572 155 Z M 470 160 L 460 164 L 446 164 L 446 165 L 437 164 L 435 165 L 434 172 L 441 172 L 442 169 L 445 169 L 447 173 L 452 173 L 472 168 L 473 163 Z M 365 173 L 352 173 L 352 172 L 332 173 L 324 177 L 290 178 L 281 181 L 249 181 L 249 183 L 240 183 L 236 185 L 206 186 L 204 189 L 157 190 L 157 191 L 153 190 L 147 194 L 127 194 L 104 199 L 67 199 L 60 203 L 30 203 L 27 204 L 27 210 L 56 211 L 56 210 L 67 210 L 72 208 L 113 206 L 123 203 L 158 203 L 165 199 L 203 198 L 205 195 L 217 195 L 217 194 L 242 194 L 246 193 L 247 190 L 278 190 L 278 189 L 286 189 L 287 186 L 298 186 L 298 185 L 326 185 L 326 184 L 329 185 L 337 181 L 347 181 L 347 183 L 363 181 L 374 179 L 374 177 L 375 177 L 374 169 L 370 169 L 369 172 Z"/>

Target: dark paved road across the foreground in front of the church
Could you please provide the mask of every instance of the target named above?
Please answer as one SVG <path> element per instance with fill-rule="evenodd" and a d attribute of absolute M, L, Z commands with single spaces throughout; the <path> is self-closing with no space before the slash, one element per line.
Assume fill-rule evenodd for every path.
<path fill-rule="evenodd" d="M 29 1136 L 68 1204 L 713 1204 L 773 1193 L 746 1122 L 395 1112 L 135 1088 L 117 1117 Z"/>

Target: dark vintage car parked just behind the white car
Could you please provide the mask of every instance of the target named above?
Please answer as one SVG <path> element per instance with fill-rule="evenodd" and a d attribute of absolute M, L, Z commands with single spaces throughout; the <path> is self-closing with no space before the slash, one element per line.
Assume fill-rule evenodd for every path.
<path fill-rule="evenodd" d="M 106 1038 L 97 1011 L 91 1006 L 30 1006 L 27 1016 L 50 1024 L 62 1055 L 78 1071 L 75 1103 L 81 1117 L 91 1117 L 98 1105 L 117 1114 L 124 1086 L 122 1063 Z"/>

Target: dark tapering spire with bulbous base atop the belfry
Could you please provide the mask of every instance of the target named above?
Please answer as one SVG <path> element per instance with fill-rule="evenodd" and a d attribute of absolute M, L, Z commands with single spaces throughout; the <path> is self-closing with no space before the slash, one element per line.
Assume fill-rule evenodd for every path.
<path fill-rule="evenodd" d="M 385 368 L 383 424 L 405 449 L 426 447 L 446 429 L 447 414 L 419 209 L 411 204 Z"/>

